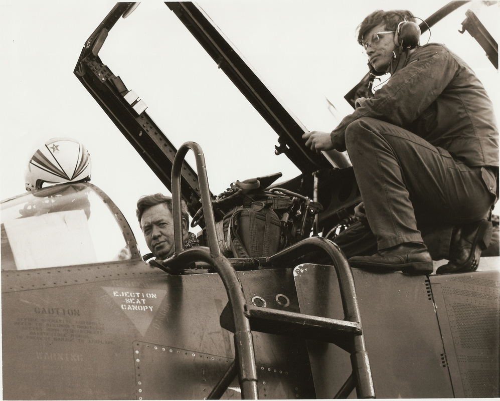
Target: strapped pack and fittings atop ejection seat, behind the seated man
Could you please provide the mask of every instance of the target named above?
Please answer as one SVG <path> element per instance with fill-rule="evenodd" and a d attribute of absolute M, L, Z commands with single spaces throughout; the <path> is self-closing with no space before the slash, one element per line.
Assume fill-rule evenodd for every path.
<path fill-rule="evenodd" d="M 310 236 L 322 207 L 310 198 L 269 185 L 281 173 L 231 183 L 213 201 L 224 212 L 216 222 L 217 239 L 227 258 L 268 257 Z M 201 222 L 199 211 L 191 224 Z M 204 236 L 202 231 L 202 236 Z"/>

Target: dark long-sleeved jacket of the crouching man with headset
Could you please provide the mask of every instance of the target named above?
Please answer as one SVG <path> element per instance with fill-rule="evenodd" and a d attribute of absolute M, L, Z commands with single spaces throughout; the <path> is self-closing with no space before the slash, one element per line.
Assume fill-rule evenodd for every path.
<path fill-rule="evenodd" d="M 345 117 L 331 132 L 337 150 L 346 150 L 346 128 L 362 117 L 405 128 L 470 167 L 498 166 L 493 105 L 470 67 L 444 45 L 417 48 L 374 97 Z"/>

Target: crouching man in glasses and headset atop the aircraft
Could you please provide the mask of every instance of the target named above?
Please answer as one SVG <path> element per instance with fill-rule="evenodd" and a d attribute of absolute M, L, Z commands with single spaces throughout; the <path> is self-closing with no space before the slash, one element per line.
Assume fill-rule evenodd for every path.
<path fill-rule="evenodd" d="M 318 152 L 349 153 L 363 200 L 356 214 L 366 222 L 358 234 L 377 244 L 373 253 L 348 255 L 352 267 L 432 273 L 420 228 L 448 224 L 454 226 L 449 262 L 437 273 L 473 271 L 491 236 L 497 123 L 474 72 L 444 45 L 419 46 L 419 35 L 409 11 L 366 17 L 358 42 L 371 76 L 390 73 L 390 79 L 358 99 L 356 110 L 333 131 L 307 132 L 303 139 Z M 350 235 L 361 238 L 349 229 L 344 233 L 341 248 Z"/>

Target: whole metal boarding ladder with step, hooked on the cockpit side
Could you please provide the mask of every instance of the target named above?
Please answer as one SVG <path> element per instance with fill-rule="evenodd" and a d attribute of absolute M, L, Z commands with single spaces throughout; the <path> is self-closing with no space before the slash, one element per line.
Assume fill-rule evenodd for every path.
<path fill-rule="evenodd" d="M 182 248 L 181 170 L 188 150 L 194 152 L 206 222 L 208 247 Z M 306 238 L 275 255 L 260 258 L 259 269 L 295 267 L 304 263 L 322 263 L 335 269 L 344 311 L 344 319 L 332 319 L 255 306 L 246 301 L 243 287 L 231 260 L 219 249 L 212 199 L 208 186 L 203 151 L 197 143 L 186 142 L 178 150 L 172 168 L 175 255 L 162 262 L 169 273 L 180 273 L 194 261 L 211 265 L 220 275 L 229 299 L 221 315 L 221 325 L 234 333 L 235 360 L 207 398 L 220 398 L 236 374 L 243 399 L 257 399 L 257 368 L 252 331 L 290 335 L 336 344 L 351 354 L 352 373 L 335 397 L 345 398 L 354 388 L 360 398 L 373 398 L 375 391 L 360 319 L 351 268 L 340 249 L 319 237 Z"/>

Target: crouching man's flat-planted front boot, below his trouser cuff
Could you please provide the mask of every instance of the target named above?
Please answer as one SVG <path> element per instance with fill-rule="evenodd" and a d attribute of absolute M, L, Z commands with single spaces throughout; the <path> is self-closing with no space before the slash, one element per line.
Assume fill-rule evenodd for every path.
<path fill-rule="evenodd" d="M 349 265 L 377 272 L 402 271 L 422 275 L 431 274 L 434 270 L 429 251 L 421 242 L 407 242 L 380 250 L 372 256 L 353 256 Z"/>

